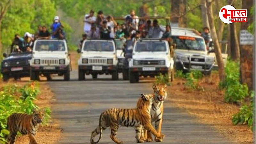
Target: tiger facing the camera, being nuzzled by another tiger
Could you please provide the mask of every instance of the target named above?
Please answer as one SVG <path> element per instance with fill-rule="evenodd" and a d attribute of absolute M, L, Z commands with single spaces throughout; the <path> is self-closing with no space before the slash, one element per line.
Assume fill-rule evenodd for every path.
<path fill-rule="evenodd" d="M 154 84 L 152 88 L 154 90 L 155 98 L 153 100 L 153 104 L 150 112 L 151 122 L 155 122 L 156 132 L 161 134 L 163 113 L 164 113 L 164 100 L 167 98 L 167 85 Z M 147 132 L 146 129 L 144 129 L 143 134 L 144 136 L 141 136 L 141 139 L 147 142 L 153 141 L 151 133 Z M 158 139 L 157 137 L 155 137 L 155 141 L 162 142 L 163 139 Z"/>

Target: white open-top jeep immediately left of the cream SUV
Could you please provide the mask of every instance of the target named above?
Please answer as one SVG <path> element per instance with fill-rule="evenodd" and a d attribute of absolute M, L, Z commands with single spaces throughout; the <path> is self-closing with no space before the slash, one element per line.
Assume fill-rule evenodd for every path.
<path fill-rule="evenodd" d="M 141 39 L 135 42 L 129 61 L 130 83 L 138 83 L 139 76 L 154 77 L 159 73 L 171 76 L 173 69 L 169 44 L 160 39 Z"/>

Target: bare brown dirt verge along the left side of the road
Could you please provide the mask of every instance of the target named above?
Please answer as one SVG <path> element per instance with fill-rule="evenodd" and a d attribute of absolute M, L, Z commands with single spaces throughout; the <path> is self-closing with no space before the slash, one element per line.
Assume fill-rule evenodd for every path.
<path fill-rule="evenodd" d="M 23 86 L 27 84 L 29 78 L 22 78 L 21 81 L 14 82 L 12 79 L 8 83 L 1 83 L 0 87 L 6 84 L 18 84 L 19 86 Z M 40 82 L 40 94 L 37 96 L 37 100 L 35 101 L 36 105 L 40 108 L 50 107 L 52 102 L 54 101 L 54 94 L 51 89 L 45 82 Z M 48 125 L 42 126 L 40 125 L 38 132 L 36 134 L 37 143 L 45 143 L 45 144 L 56 144 L 57 141 L 61 138 L 61 129 L 59 123 L 56 119 L 52 119 Z M 16 138 L 16 144 L 24 144 L 29 143 L 28 135 L 22 135 Z"/>

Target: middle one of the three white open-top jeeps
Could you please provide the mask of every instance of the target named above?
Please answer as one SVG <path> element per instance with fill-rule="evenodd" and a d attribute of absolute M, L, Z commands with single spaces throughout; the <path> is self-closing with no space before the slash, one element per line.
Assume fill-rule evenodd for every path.
<path fill-rule="evenodd" d="M 85 40 L 78 60 L 78 79 L 85 80 L 86 75 L 96 79 L 98 75 L 112 75 L 112 80 L 118 79 L 116 47 L 113 40 Z"/>

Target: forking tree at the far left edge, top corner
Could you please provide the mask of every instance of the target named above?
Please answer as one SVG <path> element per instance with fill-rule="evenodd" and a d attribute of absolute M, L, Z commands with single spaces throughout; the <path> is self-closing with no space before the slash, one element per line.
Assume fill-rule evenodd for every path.
<path fill-rule="evenodd" d="M 0 52 L 2 50 L 2 43 L 1 43 L 1 26 L 2 26 L 2 21 L 3 21 L 5 13 L 9 9 L 10 5 L 11 5 L 11 0 L 1 0 L 0 1 Z"/>

